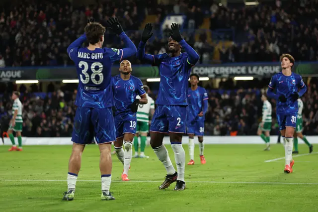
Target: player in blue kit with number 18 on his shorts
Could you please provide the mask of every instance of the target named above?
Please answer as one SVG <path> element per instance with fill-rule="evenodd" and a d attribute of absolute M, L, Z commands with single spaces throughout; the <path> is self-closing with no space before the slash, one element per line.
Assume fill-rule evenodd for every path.
<path fill-rule="evenodd" d="M 136 134 L 137 109 L 139 104 L 148 103 L 143 83 L 137 77 L 131 75 L 132 66 L 128 60 L 123 60 L 119 66 L 120 75 L 112 78 L 114 94 L 116 141 L 115 151 L 118 159 L 124 165 L 121 176 L 123 181 L 129 181 L 128 171 L 133 157 L 133 140 Z M 137 95 L 141 99 L 136 99 Z M 123 140 L 124 148 L 123 150 Z"/>

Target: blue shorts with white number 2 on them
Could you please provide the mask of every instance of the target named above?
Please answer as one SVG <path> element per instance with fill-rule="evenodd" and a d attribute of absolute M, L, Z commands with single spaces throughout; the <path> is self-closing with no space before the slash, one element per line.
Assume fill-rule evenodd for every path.
<path fill-rule="evenodd" d="M 186 133 L 187 106 L 158 105 L 150 131 L 160 133 Z"/>

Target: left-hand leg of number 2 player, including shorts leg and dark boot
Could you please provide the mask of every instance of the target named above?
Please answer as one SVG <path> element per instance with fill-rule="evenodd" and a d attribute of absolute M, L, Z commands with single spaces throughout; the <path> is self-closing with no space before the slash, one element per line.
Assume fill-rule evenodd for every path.
<path fill-rule="evenodd" d="M 168 133 L 168 120 L 165 111 L 166 106 L 157 106 L 150 127 L 150 145 L 167 172 L 165 180 L 159 186 L 159 189 L 168 188 L 178 177 L 178 174 L 171 163 L 168 150 L 162 144 L 164 134 Z"/>

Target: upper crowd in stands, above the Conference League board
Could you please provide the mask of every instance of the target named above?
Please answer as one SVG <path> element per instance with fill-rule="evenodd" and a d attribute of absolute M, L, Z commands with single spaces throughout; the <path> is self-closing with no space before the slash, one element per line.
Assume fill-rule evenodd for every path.
<path fill-rule="evenodd" d="M 292 0 L 258 6 L 230 6 L 211 0 L 101 0 L 94 6 L 76 7 L 62 0 L 24 0 L 0 10 L 0 66 L 72 65 L 67 46 L 83 33 L 88 17 L 106 25 L 117 16 L 127 34 L 138 45 L 138 30 L 147 14 L 157 15 L 154 30 L 161 29 L 166 14 L 185 14 L 183 36 L 200 53 L 200 63 L 277 61 L 289 52 L 297 61 L 318 59 L 318 2 Z M 212 35 L 196 31 L 204 17 L 210 17 Z M 218 34 L 228 29 L 234 34 Z M 166 52 L 169 29 L 162 27 L 146 49 L 148 53 Z M 200 34 L 195 38 L 195 34 Z M 213 36 L 217 34 L 217 36 Z M 212 36 L 212 43 L 207 42 Z M 231 40 L 223 45 L 220 40 Z M 122 47 L 118 37 L 106 33 L 105 46 Z M 133 62 L 138 63 L 134 58 Z"/>

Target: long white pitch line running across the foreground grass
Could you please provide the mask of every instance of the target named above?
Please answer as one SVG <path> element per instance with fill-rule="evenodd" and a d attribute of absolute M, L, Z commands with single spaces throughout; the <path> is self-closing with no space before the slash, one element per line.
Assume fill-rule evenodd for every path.
<path fill-rule="evenodd" d="M 0 181 L 13 181 L 13 182 L 67 182 L 67 180 L 32 180 L 32 179 L 22 179 L 22 180 L 9 180 L 9 179 L 0 179 Z M 100 180 L 78 180 L 77 182 L 99 182 Z M 121 181 L 121 180 L 112 180 L 116 183 L 162 183 L 162 181 L 152 181 L 152 180 L 130 180 L 130 181 Z M 280 185 L 318 185 L 318 183 L 281 183 L 281 182 L 223 182 L 223 181 L 186 181 L 186 183 L 212 183 L 212 184 L 280 184 Z"/>

